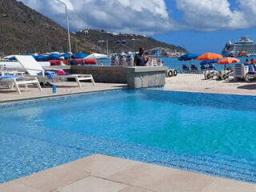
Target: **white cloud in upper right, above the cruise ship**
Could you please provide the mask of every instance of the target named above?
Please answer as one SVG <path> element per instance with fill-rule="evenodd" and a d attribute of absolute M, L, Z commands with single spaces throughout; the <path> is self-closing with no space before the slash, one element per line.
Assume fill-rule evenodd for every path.
<path fill-rule="evenodd" d="M 227 0 L 176 0 L 176 5 L 183 12 L 184 22 L 192 29 L 244 29 L 249 26 L 244 13 L 230 10 Z"/>

